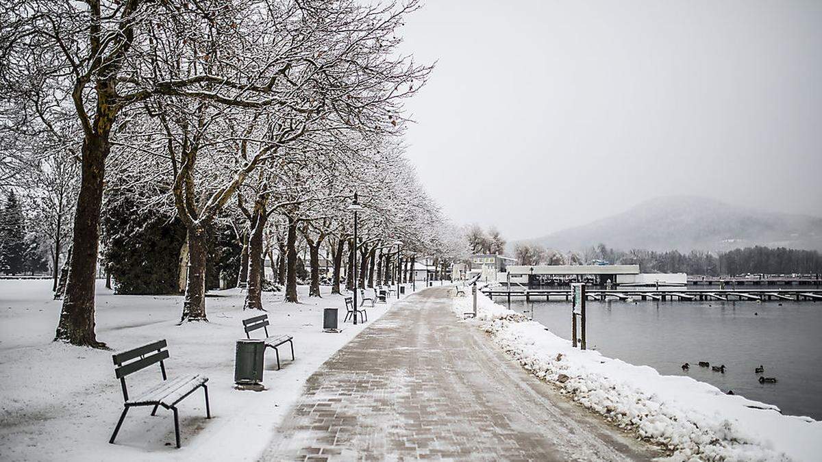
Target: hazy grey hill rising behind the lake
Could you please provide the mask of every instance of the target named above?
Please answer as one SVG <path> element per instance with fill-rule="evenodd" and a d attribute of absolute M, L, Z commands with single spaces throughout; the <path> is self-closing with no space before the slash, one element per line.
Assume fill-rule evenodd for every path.
<path fill-rule="evenodd" d="M 524 242 L 561 250 L 582 250 L 597 243 L 620 250 L 681 252 L 753 245 L 822 250 L 822 218 L 763 212 L 699 196 L 666 196 Z"/>

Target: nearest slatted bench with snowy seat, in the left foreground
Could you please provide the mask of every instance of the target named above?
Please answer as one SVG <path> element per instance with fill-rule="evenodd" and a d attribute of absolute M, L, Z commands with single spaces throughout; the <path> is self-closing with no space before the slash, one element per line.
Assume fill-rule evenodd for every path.
<path fill-rule="evenodd" d="M 120 379 L 120 385 L 122 386 L 123 409 L 117 427 L 114 427 L 114 432 L 111 435 L 109 443 L 114 444 L 114 438 L 117 437 L 117 433 L 120 431 L 120 426 L 122 426 L 122 421 L 126 418 L 128 409 L 136 406 L 154 406 L 154 409 L 151 410 L 151 415 L 155 415 L 157 408 L 163 406 L 165 409 L 171 409 L 174 413 L 174 439 L 177 442 L 177 447 L 180 447 L 180 421 L 177 414 L 177 404 L 198 388 L 202 388 L 205 393 L 205 417 L 211 418 L 211 410 L 208 403 L 208 386 L 205 386 L 208 377 L 195 374 L 193 376 L 178 377 L 172 381 L 167 380 L 168 377 L 165 375 L 164 360 L 169 358 L 169 350 L 164 348 L 166 348 L 166 341 L 159 340 L 153 344 L 143 345 L 139 348 L 113 355 L 114 365 L 117 366 L 114 368 L 114 375 Z M 159 370 L 163 373 L 163 381 L 151 387 L 149 390 L 145 390 L 136 398 L 129 399 L 128 389 L 126 387 L 126 376 L 155 363 L 159 363 Z"/>

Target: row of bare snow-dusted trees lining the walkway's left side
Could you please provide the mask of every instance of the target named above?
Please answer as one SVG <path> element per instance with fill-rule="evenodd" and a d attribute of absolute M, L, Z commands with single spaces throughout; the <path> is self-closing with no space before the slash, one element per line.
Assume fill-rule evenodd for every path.
<path fill-rule="evenodd" d="M 38 169 L 56 178 L 38 178 L 37 188 L 59 217 L 57 257 L 71 223 L 56 340 L 104 346 L 95 335 L 99 229 L 104 197 L 119 192 L 184 228 L 175 254 L 183 321 L 207 320 L 209 242 L 220 227 L 235 229 L 242 247 L 248 308 L 262 307 L 265 256 L 281 262 L 286 298 L 297 301 L 300 239 L 314 296 L 323 245 L 335 280 L 345 252 L 385 271 L 397 240 L 411 259 L 453 254 L 455 233 L 399 141 L 403 100 L 431 71 L 398 50 L 399 27 L 417 8 L 413 0 L 4 2 L 0 186 L 25 188 L 34 178 L 26 172 Z M 58 190 L 76 197 L 73 206 L 60 208 Z M 346 210 L 353 192 L 366 208 L 358 242 Z M 106 223 L 106 252 L 143 225 Z"/>

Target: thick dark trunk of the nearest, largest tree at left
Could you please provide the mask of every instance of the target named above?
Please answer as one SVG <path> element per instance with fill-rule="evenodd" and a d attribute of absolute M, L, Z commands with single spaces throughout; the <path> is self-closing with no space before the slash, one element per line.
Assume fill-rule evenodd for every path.
<path fill-rule="evenodd" d="M 100 112 L 98 102 L 98 113 Z M 113 118 L 113 114 L 110 115 Z M 100 126 L 112 120 L 98 120 Z M 54 340 L 70 344 L 105 348 L 95 335 L 95 276 L 99 245 L 100 207 L 103 203 L 105 158 L 109 155 L 108 129 L 83 139 L 80 194 L 74 217 L 72 260 L 68 271 L 66 295 Z"/>

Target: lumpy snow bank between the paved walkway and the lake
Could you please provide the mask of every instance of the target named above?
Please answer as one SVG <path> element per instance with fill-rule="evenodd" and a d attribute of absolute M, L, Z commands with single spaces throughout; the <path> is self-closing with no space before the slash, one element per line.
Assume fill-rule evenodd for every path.
<path fill-rule="evenodd" d="M 472 309 L 470 296 L 454 299 L 460 315 Z M 471 322 L 533 375 L 666 447 L 674 460 L 819 460 L 822 455 L 822 422 L 783 415 L 776 406 L 725 395 L 690 377 L 663 376 L 653 367 L 575 349 L 542 324 L 482 295 L 477 321 Z"/>

